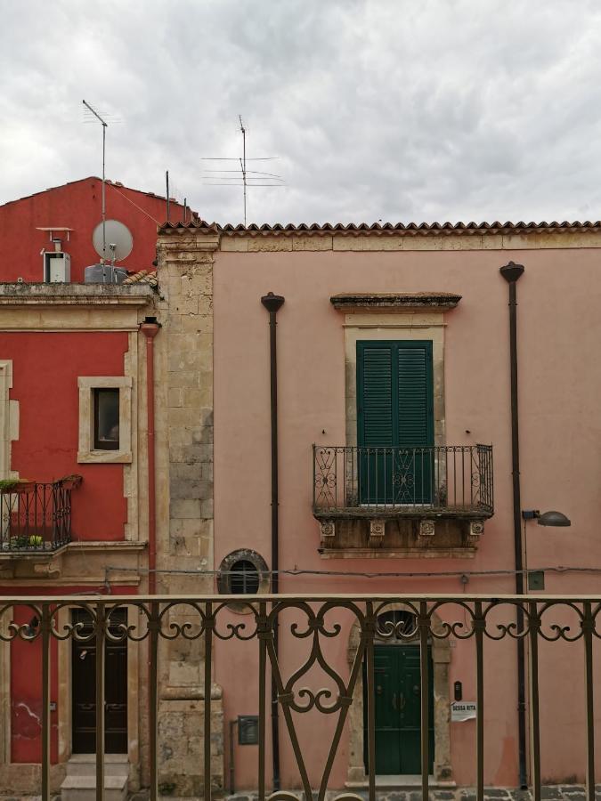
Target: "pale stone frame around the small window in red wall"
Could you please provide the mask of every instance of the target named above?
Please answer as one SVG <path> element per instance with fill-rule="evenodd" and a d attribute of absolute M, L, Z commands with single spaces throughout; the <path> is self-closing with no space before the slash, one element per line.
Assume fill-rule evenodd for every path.
<path fill-rule="evenodd" d="M 130 464 L 132 462 L 132 378 L 131 376 L 79 376 L 79 446 L 77 462 L 80 464 Z M 93 391 L 118 389 L 119 391 L 119 448 L 100 450 L 93 448 Z"/>

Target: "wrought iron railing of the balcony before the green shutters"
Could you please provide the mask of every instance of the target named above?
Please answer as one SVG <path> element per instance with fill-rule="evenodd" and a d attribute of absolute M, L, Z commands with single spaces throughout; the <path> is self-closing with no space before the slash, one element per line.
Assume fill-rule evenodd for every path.
<path fill-rule="evenodd" d="M 313 445 L 313 510 L 490 517 L 491 445 L 364 448 Z"/>

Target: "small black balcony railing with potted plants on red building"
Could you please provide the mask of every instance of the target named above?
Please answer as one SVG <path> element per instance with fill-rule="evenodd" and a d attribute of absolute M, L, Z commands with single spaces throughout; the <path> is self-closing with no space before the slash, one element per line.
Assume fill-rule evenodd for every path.
<path fill-rule="evenodd" d="M 0 551 L 55 551 L 71 541 L 71 491 L 80 475 L 59 481 L 0 481 Z"/>

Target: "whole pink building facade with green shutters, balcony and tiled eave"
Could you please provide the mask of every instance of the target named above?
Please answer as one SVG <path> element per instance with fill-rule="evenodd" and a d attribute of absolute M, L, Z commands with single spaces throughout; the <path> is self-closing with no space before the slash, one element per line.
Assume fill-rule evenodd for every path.
<path fill-rule="evenodd" d="M 207 404 L 215 432 L 214 569 L 250 571 L 251 578 L 258 570 L 259 591 L 270 589 L 270 335 L 261 298 L 273 292 L 284 298 L 277 312 L 279 592 L 516 591 L 508 283 L 499 273 L 513 261 L 525 268 L 516 285 L 521 506 L 561 510 L 572 521 L 570 528 L 524 521 L 523 560 L 544 572 L 532 578 L 537 595 L 598 592 L 598 574 L 582 569 L 601 568 L 599 247 L 599 226 L 580 223 L 163 228 L 159 279 L 167 262 L 194 254 L 212 275 L 214 393 Z M 222 578 L 219 586 L 252 590 L 252 580 L 245 581 Z M 402 604 L 391 611 L 397 622 L 408 614 Z M 233 623 L 244 619 L 232 609 Z M 342 625 L 344 636 L 326 648 L 345 675 L 357 633 L 350 620 Z M 379 654 L 384 673 L 409 686 L 410 644 L 381 647 L 377 667 Z M 559 643 L 552 654 L 545 647 L 542 774 L 548 783 L 574 781 L 585 771 L 580 646 Z M 283 627 L 280 654 L 293 671 L 306 657 L 306 643 Z M 225 732 L 238 716 L 256 715 L 253 659 L 228 643 L 216 645 Z M 475 721 L 451 720 L 451 705 L 458 692 L 464 701 L 475 698 L 473 643 L 451 636 L 432 644 L 431 659 L 431 773 L 439 786 L 470 785 Z M 316 668 L 317 684 L 318 674 Z M 484 781 L 516 786 L 515 643 L 486 643 L 484 681 Z M 391 706 L 398 701 L 392 684 L 375 692 L 390 693 Z M 360 687 L 331 788 L 361 788 L 366 781 L 363 700 Z M 528 705 L 526 699 L 526 718 Z M 384 731 L 386 711 L 380 714 Z M 597 703 L 597 723 L 600 714 Z M 335 721 L 302 717 L 305 761 L 319 783 Z M 414 759 L 409 754 L 399 762 L 388 750 L 376 773 L 403 785 L 418 773 Z M 255 788 L 256 748 L 234 744 L 233 759 L 237 787 Z M 226 757 L 226 774 L 227 768 Z M 283 789 L 299 786 L 285 732 L 280 773 Z"/>

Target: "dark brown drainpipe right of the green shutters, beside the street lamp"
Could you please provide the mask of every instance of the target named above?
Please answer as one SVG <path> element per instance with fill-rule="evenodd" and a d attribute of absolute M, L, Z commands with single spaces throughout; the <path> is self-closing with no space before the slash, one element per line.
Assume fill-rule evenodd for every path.
<path fill-rule="evenodd" d="M 516 283 L 524 272 L 522 264 L 509 262 L 500 268 L 500 274 L 509 284 L 509 369 L 511 374 L 511 474 L 514 490 L 514 554 L 516 563 L 516 594 L 524 595 L 524 561 L 522 546 L 522 499 L 520 497 L 520 437 L 517 407 L 517 292 Z M 524 610 L 517 607 L 518 632 L 524 631 Z M 522 789 L 528 788 L 526 774 L 526 682 L 524 637 L 517 640 L 517 738 L 519 753 L 519 781 Z"/>

